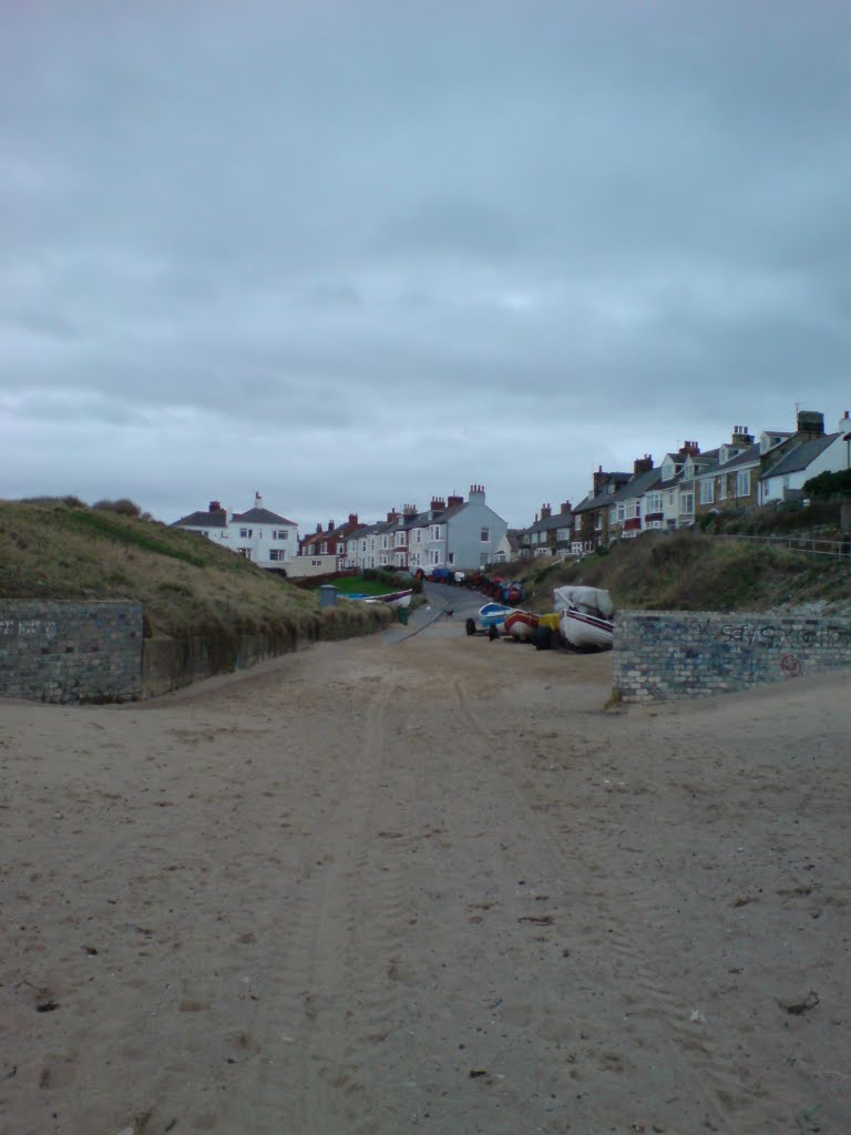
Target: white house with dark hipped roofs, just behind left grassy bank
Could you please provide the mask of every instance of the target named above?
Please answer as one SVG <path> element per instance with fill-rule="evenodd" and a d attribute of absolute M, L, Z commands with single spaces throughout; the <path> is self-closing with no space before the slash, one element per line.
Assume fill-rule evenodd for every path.
<path fill-rule="evenodd" d="M 172 528 L 197 532 L 251 560 L 258 568 L 286 568 L 298 553 L 298 527 L 286 516 L 263 507 L 259 493 L 247 512 L 228 513 L 218 501 L 207 512 L 193 512 L 175 521 Z"/>

